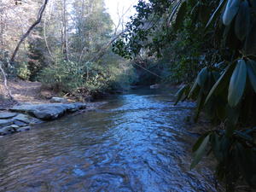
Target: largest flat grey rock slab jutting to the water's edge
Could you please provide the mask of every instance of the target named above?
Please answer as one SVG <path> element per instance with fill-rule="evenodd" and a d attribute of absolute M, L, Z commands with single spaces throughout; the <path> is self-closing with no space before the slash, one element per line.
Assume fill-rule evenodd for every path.
<path fill-rule="evenodd" d="M 47 104 L 31 104 L 20 105 L 10 108 L 13 112 L 28 113 L 38 119 L 52 120 L 61 117 L 64 113 L 76 112 L 79 109 L 86 108 L 84 103 L 47 103 Z"/>

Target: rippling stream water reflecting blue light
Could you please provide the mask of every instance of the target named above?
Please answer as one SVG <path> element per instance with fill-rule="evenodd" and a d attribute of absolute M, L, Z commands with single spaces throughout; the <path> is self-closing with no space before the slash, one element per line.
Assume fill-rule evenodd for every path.
<path fill-rule="evenodd" d="M 194 104 L 134 90 L 95 111 L 0 138 L 0 191 L 217 191 L 205 160 L 189 170 Z"/>

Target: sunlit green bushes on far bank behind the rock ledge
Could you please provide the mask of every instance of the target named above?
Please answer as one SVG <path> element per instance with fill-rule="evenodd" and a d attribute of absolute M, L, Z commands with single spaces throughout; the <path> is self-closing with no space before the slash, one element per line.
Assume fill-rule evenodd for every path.
<path fill-rule="evenodd" d="M 123 90 L 136 79 L 133 68 L 127 65 L 113 65 L 58 59 L 45 67 L 38 79 L 48 88 L 77 94 L 96 94 L 111 90 Z"/>

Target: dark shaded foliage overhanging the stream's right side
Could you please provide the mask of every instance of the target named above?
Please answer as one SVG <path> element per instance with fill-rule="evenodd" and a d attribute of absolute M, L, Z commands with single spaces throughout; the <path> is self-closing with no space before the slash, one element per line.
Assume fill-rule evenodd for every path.
<path fill-rule="evenodd" d="M 205 110 L 216 125 L 195 143 L 191 167 L 213 154 L 227 190 L 238 180 L 255 187 L 256 1 L 150 0 L 136 8 L 113 51 L 169 57 L 171 80 L 188 83 L 177 101 L 195 100 L 195 119 Z"/>

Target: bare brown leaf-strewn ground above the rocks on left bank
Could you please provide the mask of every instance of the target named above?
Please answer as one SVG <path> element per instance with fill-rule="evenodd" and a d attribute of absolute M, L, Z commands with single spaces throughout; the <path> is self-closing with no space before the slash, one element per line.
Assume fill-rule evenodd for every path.
<path fill-rule="evenodd" d="M 15 101 L 9 99 L 8 90 L 0 82 L 0 109 L 10 108 L 20 102 L 48 103 L 50 97 L 57 96 L 54 91 L 42 89 L 40 82 L 17 79 L 9 81 L 8 87 Z"/>

